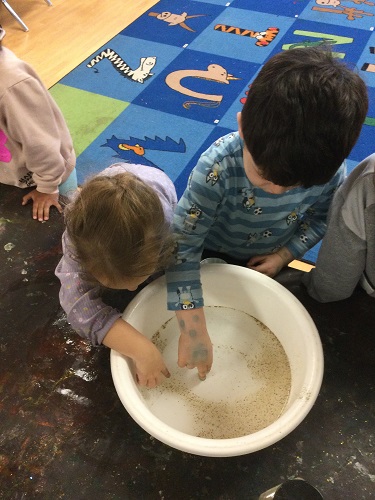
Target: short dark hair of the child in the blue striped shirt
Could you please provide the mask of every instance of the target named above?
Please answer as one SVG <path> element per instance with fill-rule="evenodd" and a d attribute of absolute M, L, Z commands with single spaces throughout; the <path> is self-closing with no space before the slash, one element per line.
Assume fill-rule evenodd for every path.
<path fill-rule="evenodd" d="M 367 110 L 364 81 L 327 47 L 281 52 L 249 89 L 245 145 L 275 184 L 325 184 L 356 143 Z"/>

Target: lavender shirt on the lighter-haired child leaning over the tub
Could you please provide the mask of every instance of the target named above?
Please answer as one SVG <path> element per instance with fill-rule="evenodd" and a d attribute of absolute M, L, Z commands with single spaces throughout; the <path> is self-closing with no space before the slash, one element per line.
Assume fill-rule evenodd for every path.
<path fill-rule="evenodd" d="M 152 167 L 116 163 L 99 175 L 116 175 L 131 172 L 151 186 L 159 196 L 166 220 L 171 223 L 177 203 L 172 181 L 167 175 Z M 61 282 L 60 303 L 72 328 L 93 345 L 102 343 L 113 323 L 122 313 L 106 305 L 101 298 L 102 287 L 82 268 L 67 232 L 62 236 L 63 257 L 55 274 Z"/>

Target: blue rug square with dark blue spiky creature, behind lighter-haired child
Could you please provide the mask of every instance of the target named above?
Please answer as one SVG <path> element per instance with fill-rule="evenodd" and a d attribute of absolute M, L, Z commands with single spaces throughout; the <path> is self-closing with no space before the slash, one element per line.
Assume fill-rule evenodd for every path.
<path fill-rule="evenodd" d="M 95 158 L 94 165 L 103 168 L 117 161 L 156 167 L 175 182 L 214 128 L 150 108 L 128 106 L 79 156 L 79 177 L 83 180 L 93 173 Z M 181 186 L 179 192 L 184 189 Z"/>

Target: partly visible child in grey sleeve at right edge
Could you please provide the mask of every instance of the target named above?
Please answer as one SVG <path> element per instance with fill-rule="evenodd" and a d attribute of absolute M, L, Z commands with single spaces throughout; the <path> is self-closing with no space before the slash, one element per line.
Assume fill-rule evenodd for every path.
<path fill-rule="evenodd" d="M 316 267 L 302 282 L 319 302 L 346 299 L 357 285 L 375 298 L 375 154 L 336 191 Z"/>

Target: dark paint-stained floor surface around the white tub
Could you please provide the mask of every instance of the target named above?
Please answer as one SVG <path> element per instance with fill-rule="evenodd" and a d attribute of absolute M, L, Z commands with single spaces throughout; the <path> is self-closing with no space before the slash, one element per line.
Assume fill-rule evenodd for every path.
<path fill-rule="evenodd" d="M 324 498 L 375 498 L 375 308 L 358 290 L 301 300 L 320 332 L 325 375 L 305 420 L 267 449 L 232 458 L 174 450 L 141 429 L 118 399 L 109 351 L 67 324 L 54 269 L 63 218 L 31 218 L 22 192 L 0 185 L 0 497 L 4 499 L 246 499 L 303 477 Z M 251 418 L 251 416 L 249 416 Z"/>

